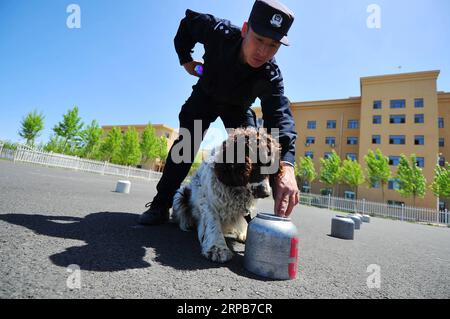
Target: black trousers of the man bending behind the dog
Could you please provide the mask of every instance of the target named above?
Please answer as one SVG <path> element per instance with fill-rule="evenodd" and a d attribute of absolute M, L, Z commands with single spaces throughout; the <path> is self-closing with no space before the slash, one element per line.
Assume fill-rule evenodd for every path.
<path fill-rule="evenodd" d="M 180 135 L 171 147 L 162 177 L 156 186 L 158 193 L 153 202 L 163 203 L 172 207 L 173 197 L 188 175 L 195 156 L 199 151 L 200 141 L 194 143 L 194 121 L 201 121 L 201 137 L 203 137 L 211 123 L 218 117 L 223 121 L 225 128 L 256 127 L 256 114 L 251 108 L 220 105 L 212 97 L 206 95 L 199 85 L 193 86 L 192 94 L 181 108 L 179 114 L 180 129 L 184 128 L 189 131 L 190 135 L 188 135 L 188 138 L 190 140 L 183 141 L 186 137 Z M 197 136 L 199 136 L 198 132 Z M 181 163 L 173 161 L 172 155 L 179 155 L 175 154 L 176 152 L 174 151 L 174 148 L 177 152 L 180 149 L 179 143 L 185 143 L 183 145 L 190 146 L 191 158 L 189 161 Z"/>

